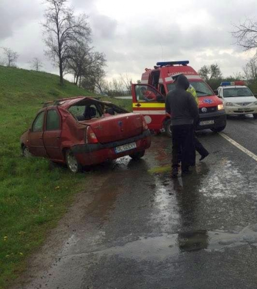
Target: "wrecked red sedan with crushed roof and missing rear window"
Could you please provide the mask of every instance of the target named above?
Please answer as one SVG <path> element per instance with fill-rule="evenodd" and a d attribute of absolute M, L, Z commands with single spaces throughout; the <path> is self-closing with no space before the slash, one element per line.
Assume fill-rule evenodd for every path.
<path fill-rule="evenodd" d="M 150 144 L 142 115 L 90 97 L 45 103 L 21 136 L 24 156 L 66 163 L 73 173 L 124 155 L 141 158 Z"/>

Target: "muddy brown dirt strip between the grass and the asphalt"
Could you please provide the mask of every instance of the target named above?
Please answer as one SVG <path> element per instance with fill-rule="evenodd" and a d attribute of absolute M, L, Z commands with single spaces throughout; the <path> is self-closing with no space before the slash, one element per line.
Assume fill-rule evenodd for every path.
<path fill-rule="evenodd" d="M 87 183 L 87 189 L 78 193 L 68 212 L 61 218 L 58 226 L 48 232 L 45 244 L 27 261 L 27 270 L 15 281 L 11 289 L 25 288 L 35 277 L 42 276 L 50 266 L 58 261 L 59 253 L 65 248 L 70 236 L 85 223 L 85 216 L 92 211 L 97 202 L 97 191 L 101 190 L 103 182 L 110 177 L 97 174 Z M 96 182 L 97 180 L 97 182 Z"/>

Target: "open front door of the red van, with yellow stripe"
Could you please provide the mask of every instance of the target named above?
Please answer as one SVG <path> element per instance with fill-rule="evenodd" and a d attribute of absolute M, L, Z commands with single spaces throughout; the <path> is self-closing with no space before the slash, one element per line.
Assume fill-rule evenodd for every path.
<path fill-rule="evenodd" d="M 132 84 L 133 112 L 143 114 L 150 130 L 160 131 L 167 118 L 165 97 L 149 84 Z"/>

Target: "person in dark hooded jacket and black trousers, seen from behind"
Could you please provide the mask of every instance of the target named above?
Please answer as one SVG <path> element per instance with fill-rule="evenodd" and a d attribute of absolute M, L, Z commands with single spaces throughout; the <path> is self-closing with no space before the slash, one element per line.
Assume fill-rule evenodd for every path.
<path fill-rule="evenodd" d="M 166 100 L 166 112 L 171 116 L 172 127 L 172 175 L 178 175 L 178 152 L 181 149 L 182 173 L 190 173 L 192 156 L 195 154 L 194 121 L 198 119 L 198 107 L 190 92 L 189 82 L 179 75 L 175 90 L 169 91 Z"/>

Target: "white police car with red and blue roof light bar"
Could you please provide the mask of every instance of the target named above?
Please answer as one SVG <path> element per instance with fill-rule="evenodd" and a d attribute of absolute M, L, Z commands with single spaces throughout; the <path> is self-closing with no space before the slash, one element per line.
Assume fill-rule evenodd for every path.
<path fill-rule="evenodd" d="M 257 118 L 257 99 L 244 81 L 221 82 L 217 95 L 222 99 L 227 115 L 253 114 Z"/>

